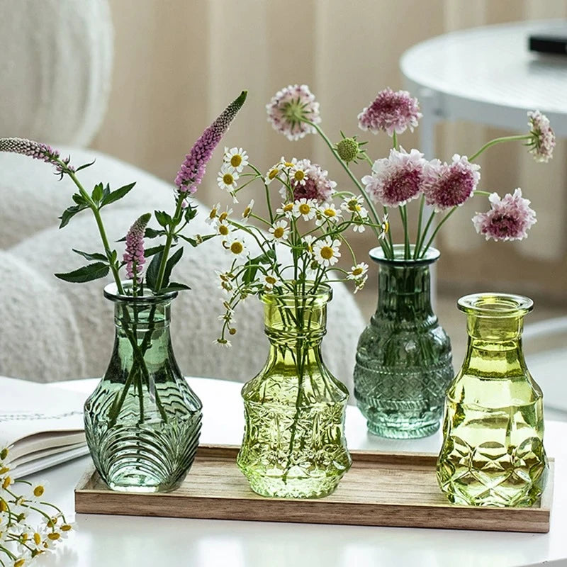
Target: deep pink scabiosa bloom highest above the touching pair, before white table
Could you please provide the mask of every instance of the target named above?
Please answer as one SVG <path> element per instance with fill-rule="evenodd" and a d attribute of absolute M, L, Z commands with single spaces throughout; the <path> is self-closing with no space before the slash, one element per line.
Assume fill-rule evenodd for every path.
<path fill-rule="evenodd" d="M 422 117 L 417 99 L 413 99 L 408 91 L 393 91 L 383 89 L 378 93 L 374 102 L 359 114 L 359 128 L 378 134 L 380 130 L 388 133 L 401 134 L 406 128 L 413 129 Z"/>

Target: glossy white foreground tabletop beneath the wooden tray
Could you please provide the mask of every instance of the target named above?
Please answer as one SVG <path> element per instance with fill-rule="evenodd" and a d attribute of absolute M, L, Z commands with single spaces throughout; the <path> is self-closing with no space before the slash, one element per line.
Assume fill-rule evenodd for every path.
<path fill-rule="evenodd" d="M 203 400 L 203 443 L 240 444 L 242 384 L 190 378 Z M 88 395 L 96 380 L 54 383 Z M 548 534 L 449 529 L 279 524 L 226 520 L 77 515 L 77 532 L 40 566 L 61 567 L 517 567 L 567 564 L 567 423 L 547 422 L 546 448 L 556 459 Z M 440 434 L 413 441 L 366 432 L 357 408 L 347 408 L 351 449 L 437 452 Z M 89 466 L 83 457 L 31 478 L 50 481 L 49 498 L 74 510 L 73 489 Z M 563 563 L 566 561 L 566 563 Z M 556 563 L 557 562 L 557 563 Z"/>

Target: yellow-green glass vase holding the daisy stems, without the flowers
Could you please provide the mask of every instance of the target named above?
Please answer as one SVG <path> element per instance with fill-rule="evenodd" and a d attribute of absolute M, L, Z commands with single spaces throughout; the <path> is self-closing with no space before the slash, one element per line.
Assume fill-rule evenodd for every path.
<path fill-rule="evenodd" d="M 320 498 L 351 466 L 344 437 L 349 394 L 321 356 L 331 289 L 319 290 L 262 296 L 269 355 L 242 388 L 245 432 L 237 464 L 263 496 Z"/>

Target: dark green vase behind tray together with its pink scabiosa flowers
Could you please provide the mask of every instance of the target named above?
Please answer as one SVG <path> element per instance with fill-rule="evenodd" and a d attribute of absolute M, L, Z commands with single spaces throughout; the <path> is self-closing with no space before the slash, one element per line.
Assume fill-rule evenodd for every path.
<path fill-rule="evenodd" d="M 373 160 L 356 135 L 333 144 L 320 126 L 319 104 L 305 85 L 282 89 L 266 106 L 268 120 L 289 140 L 316 133 L 322 137 L 364 199 L 376 244 L 370 257 L 380 265 L 378 308 L 359 339 L 354 369 L 355 395 L 369 430 L 384 437 L 422 437 L 439 427 L 444 391 L 453 376 L 449 337 L 439 326 L 430 301 L 430 264 L 439 257 L 432 247 L 444 223 L 473 196 L 488 197 L 490 209 L 473 217 L 486 239 L 522 240 L 536 222 L 521 189 L 503 198 L 478 189 L 475 160 L 500 142 L 523 141 L 534 158 L 551 158 L 555 136 L 539 111 L 528 113 L 529 132 L 490 140 L 470 157 L 455 154 L 450 162 L 427 160 L 415 148 L 407 152 L 398 136 L 413 130 L 422 114 L 406 91 L 385 89 L 358 116 L 359 128 L 392 138 L 388 157 Z M 359 179 L 352 164 L 366 162 L 371 173 Z M 419 200 L 417 220 L 410 223 L 408 203 Z M 391 232 L 382 238 L 381 215 L 397 209 L 403 242 Z M 437 222 L 437 218 L 441 219 Z M 412 230 L 415 227 L 415 231 Z M 364 230 L 364 226 L 360 227 Z"/>

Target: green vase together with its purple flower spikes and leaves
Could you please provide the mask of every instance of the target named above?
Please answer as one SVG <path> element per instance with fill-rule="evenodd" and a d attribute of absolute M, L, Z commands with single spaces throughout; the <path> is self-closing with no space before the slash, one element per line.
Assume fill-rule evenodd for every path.
<path fill-rule="evenodd" d="M 157 492 L 173 490 L 191 467 L 201 432 L 201 401 L 177 366 L 169 336 L 170 305 L 177 293 L 189 289 L 172 279 L 183 255 L 184 242 L 195 247 L 213 234 L 187 237 L 184 228 L 195 217 L 189 197 L 196 192 L 206 164 L 247 93 L 225 108 L 186 156 L 175 180 L 174 213 L 156 210 L 159 228 L 150 228 L 151 213 L 140 216 L 128 230 L 120 259 L 104 228 L 101 210 L 125 197 L 135 184 L 111 190 L 98 184 L 86 191 L 77 174 L 90 164 L 75 168 L 51 147 L 20 138 L 0 139 L 0 151 L 16 152 L 55 165 L 77 186 L 74 205 L 64 210 L 60 228 L 82 210 L 96 220 L 103 249 L 73 251 L 90 263 L 58 278 L 82 283 L 112 274 L 104 296 L 115 304 L 116 338 L 106 374 L 84 407 L 86 441 L 103 481 L 114 490 Z M 163 242 L 145 246 L 145 239 Z M 147 259 L 151 261 L 145 273 Z M 126 278 L 120 277 L 125 269 Z"/>

